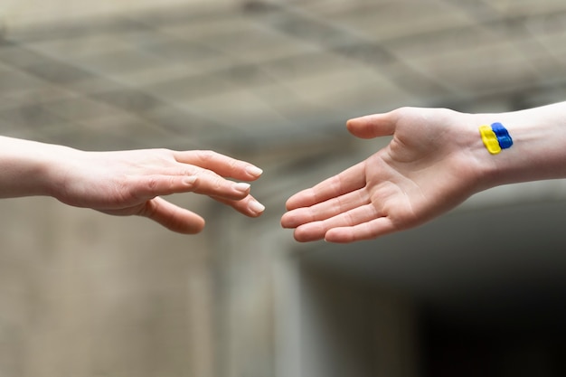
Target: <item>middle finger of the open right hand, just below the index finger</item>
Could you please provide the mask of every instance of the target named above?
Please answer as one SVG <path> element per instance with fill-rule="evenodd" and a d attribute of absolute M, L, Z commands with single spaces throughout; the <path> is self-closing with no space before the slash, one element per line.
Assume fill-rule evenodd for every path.
<path fill-rule="evenodd" d="M 370 203 L 370 197 L 367 191 L 356 190 L 323 203 L 289 211 L 281 217 L 281 226 L 283 228 L 297 228 L 297 226 L 307 222 L 329 219 L 368 203 Z"/>

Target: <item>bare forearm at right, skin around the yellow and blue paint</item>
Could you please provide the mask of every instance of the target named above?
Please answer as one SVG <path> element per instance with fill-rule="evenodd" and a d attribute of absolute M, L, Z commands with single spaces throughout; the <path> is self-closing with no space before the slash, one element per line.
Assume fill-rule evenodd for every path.
<path fill-rule="evenodd" d="M 566 178 L 566 102 L 502 114 L 476 114 L 472 119 L 476 130 L 501 122 L 513 138 L 513 146 L 491 155 L 476 131 L 472 149 L 485 167 L 486 188 Z"/>

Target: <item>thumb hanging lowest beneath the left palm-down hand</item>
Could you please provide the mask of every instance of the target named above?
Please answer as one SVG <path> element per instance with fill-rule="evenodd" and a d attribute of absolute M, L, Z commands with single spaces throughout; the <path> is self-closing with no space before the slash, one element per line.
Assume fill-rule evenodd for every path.
<path fill-rule="evenodd" d="M 138 214 L 178 233 L 195 234 L 203 231 L 204 228 L 204 219 L 201 216 L 160 197 L 147 201 L 146 206 Z"/>

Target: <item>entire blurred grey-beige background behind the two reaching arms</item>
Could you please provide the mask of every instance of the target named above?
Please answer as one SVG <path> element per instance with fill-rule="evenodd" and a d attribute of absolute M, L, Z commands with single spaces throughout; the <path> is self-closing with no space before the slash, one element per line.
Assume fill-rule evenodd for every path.
<path fill-rule="evenodd" d="M 279 219 L 387 143 L 348 118 L 565 98 L 563 0 L 2 0 L 2 135 L 213 149 L 264 169 L 267 211 L 174 195 L 207 220 L 183 236 L 0 201 L 0 376 L 564 375 L 565 182 L 354 245 Z"/>

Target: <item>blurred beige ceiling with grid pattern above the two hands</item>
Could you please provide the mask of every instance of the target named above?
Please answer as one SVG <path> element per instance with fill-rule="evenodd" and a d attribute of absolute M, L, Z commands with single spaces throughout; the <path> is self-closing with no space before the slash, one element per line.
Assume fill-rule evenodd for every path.
<path fill-rule="evenodd" d="M 563 0 L 187 5 L 0 43 L 0 133 L 89 149 L 269 147 L 401 105 L 565 88 Z"/>

